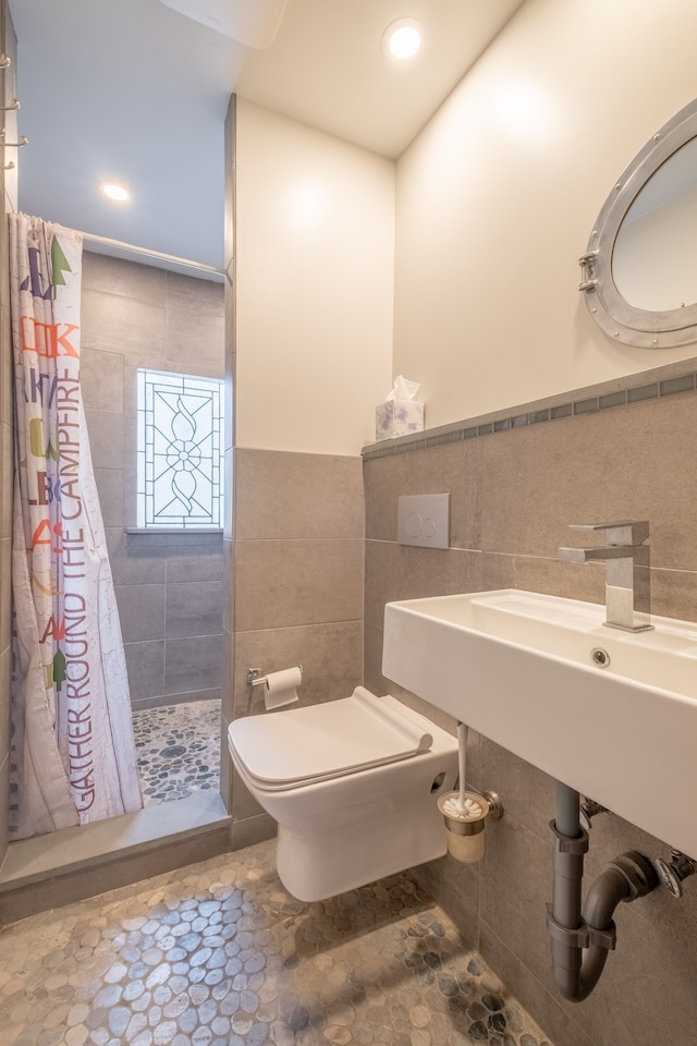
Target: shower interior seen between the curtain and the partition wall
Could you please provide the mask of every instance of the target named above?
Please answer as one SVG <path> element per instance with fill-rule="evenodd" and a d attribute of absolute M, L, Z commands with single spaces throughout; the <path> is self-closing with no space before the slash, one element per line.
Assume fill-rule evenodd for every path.
<path fill-rule="evenodd" d="M 150 396 L 181 404 L 184 376 L 215 386 L 223 369 L 221 282 L 85 251 L 83 397 L 146 805 L 217 787 L 224 593 L 220 527 L 206 526 L 206 519 L 204 526 L 186 526 L 171 513 L 158 525 L 157 515 L 146 520 L 138 510 L 146 483 L 138 378 L 156 375 Z M 200 464 L 194 454 L 200 455 L 206 434 L 185 414 L 168 421 L 181 439 L 164 430 L 157 412 L 147 435 L 156 443 L 171 440 L 163 471 L 196 475 L 169 466 L 174 452 L 182 464 L 180 448 L 192 448 L 188 458 Z M 189 508 L 192 500 L 198 504 L 197 492 Z"/>

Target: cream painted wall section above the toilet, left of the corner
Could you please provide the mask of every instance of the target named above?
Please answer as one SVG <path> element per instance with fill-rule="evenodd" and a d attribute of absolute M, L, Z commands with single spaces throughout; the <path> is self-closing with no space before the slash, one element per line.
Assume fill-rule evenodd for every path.
<path fill-rule="evenodd" d="M 394 173 L 237 98 L 237 447 L 374 441 L 392 385 Z"/>

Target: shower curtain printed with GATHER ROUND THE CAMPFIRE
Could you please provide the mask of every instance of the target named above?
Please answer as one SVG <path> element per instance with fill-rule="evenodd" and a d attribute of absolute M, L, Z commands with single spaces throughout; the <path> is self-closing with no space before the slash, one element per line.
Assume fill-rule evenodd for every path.
<path fill-rule="evenodd" d="M 10 838 L 142 806 L 80 386 L 82 236 L 10 218 L 15 478 Z"/>

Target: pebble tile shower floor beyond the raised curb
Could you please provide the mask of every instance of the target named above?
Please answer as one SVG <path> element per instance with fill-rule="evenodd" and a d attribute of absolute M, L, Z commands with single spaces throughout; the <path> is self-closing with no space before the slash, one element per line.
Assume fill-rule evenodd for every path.
<path fill-rule="evenodd" d="M 133 713 L 145 806 L 217 789 L 220 779 L 220 698 Z"/>

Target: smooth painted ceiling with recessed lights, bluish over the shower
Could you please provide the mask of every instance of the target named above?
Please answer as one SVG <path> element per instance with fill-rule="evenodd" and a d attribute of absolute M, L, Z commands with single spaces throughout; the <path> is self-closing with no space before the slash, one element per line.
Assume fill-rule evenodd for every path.
<path fill-rule="evenodd" d="M 233 92 L 396 158 L 523 2 L 286 0 L 261 50 L 161 0 L 10 0 L 19 133 L 29 138 L 17 154 L 20 208 L 222 266 Z M 398 64 L 381 37 L 406 15 L 424 24 L 424 45 Z M 126 184 L 131 200 L 106 200 L 105 180 Z"/>

